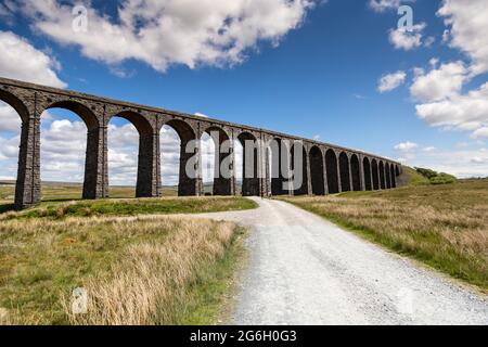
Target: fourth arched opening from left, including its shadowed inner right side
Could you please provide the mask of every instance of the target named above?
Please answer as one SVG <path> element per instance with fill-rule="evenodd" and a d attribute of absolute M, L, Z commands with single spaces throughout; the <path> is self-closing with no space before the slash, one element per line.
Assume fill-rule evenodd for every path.
<path fill-rule="evenodd" d="M 180 119 L 171 119 L 162 128 L 162 184 L 178 185 L 179 196 L 197 195 L 196 168 L 189 165 L 196 152 L 195 139 L 190 125 Z"/>

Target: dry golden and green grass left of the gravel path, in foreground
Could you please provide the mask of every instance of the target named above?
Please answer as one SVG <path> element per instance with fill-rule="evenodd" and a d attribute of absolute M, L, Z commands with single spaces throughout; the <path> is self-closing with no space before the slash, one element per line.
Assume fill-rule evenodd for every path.
<path fill-rule="evenodd" d="M 0 323 L 184 323 L 236 231 L 165 216 L 1 221 Z M 87 314 L 70 311 L 75 287 L 88 291 Z"/>

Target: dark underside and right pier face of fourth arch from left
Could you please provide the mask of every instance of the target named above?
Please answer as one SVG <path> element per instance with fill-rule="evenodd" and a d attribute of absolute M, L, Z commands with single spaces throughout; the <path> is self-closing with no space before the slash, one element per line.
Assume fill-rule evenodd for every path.
<path fill-rule="evenodd" d="M 197 167 L 195 165 L 193 166 L 188 165 L 189 160 L 191 160 L 192 157 L 194 157 L 194 155 L 197 153 L 195 131 L 187 121 L 181 119 L 170 119 L 166 121 L 164 125 L 174 129 L 178 133 L 178 137 L 180 138 L 178 195 L 179 196 L 197 195 L 198 190 Z M 194 145 L 191 145 L 191 141 L 193 141 Z M 187 172 L 188 169 L 193 170 Z"/>

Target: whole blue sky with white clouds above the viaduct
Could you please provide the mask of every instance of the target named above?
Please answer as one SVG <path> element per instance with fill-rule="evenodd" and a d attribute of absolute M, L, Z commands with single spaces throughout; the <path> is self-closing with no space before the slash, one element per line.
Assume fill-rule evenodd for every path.
<path fill-rule="evenodd" d="M 138 21 L 131 22 L 132 27 L 124 24 L 115 1 L 86 3 L 90 40 L 70 31 L 69 1 L 63 1 L 65 5 L 47 1 L 49 8 L 35 1 L 4 0 L 0 30 L 50 59 L 44 68 L 56 79 L 35 81 L 61 82 L 98 95 L 318 138 L 458 176 L 488 176 L 488 106 L 483 103 L 481 90 L 488 70 L 487 39 L 481 38 L 488 14 L 483 0 L 296 0 L 292 10 L 286 9 L 287 1 L 272 0 L 268 7 L 275 9 L 242 12 L 224 4 L 219 8 L 220 1 L 208 2 L 207 8 L 181 1 L 187 9 L 172 7 L 177 0 L 159 1 L 168 4 L 168 10 L 159 9 L 157 1 L 142 1 L 142 10 L 131 8 L 136 1 L 125 1 L 125 13 Z M 251 3 L 259 8 L 264 1 Z M 394 37 L 399 4 L 412 8 L 415 30 Z M 210 36 L 218 46 L 214 51 L 213 46 L 195 39 L 209 28 L 206 21 L 198 27 L 200 20 L 213 15 L 228 21 L 232 15 L 248 16 L 249 21 L 230 26 L 229 31 L 237 34 L 229 35 L 222 44 Z M 466 20 L 474 15 L 480 20 Z M 133 34 L 154 20 L 187 16 L 193 20 L 177 27 L 177 39 L 168 39 L 168 31 L 159 28 L 154 39 L 160 44 L 151 41 L 151 36 L 140 41 L 136 37 L 138 46 L 123 44 L 120 51 L 126 52 L 120 54 L 105 49 L 111 44 L 117 49 L 117 34 L 111 34 L 113 37 L 98 29 L 105 23 Z M 224 23 L 210 25 L 216 27 L 221 29 Z M 156 49 L 147 48 L 153 44 Z M 396 73 L 400 73 L 400 81 L 393 78 L 393 85 L 387 83 L 381 92 L 380 79 Z M 24 77 L 4 60 L 0 61 L 0 75 Z M 438 92 L 433 95 L 433 90 Z M 470 97 L 470 92 L 477 94 Z M 422 116 L 419 105 L 425 106 Z M 476 119 L 470 118 L 470 107 L 479 113 Z M 47 128 L 53 119 L 79 120 L 60 112 L 52 112 L 51 117 Z M 120 120 L 114 123 L 114 127 L 124 126 Z M 0 127 L 0 144 L 14 142 L 15 131 L 4 128 Z M 127 156 L 134 152 L 127 151 Z M 9 155 L 3 153 L 3 158 L 9 160 Z M 0 171 L 0 177 L 10 176 Z"/>

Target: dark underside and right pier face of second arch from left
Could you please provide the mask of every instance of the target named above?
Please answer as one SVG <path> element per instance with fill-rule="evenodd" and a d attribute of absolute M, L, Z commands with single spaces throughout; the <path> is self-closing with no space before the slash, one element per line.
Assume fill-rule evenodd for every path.
<path fill-rule="evenodd" d="M 100 119 L 89 106 L 75 100 L 59 100 L 48 104 L 43 112 L 49 110 L 66 110 L 77 115 L 87 127 L 85 175 L 82 198 L 99 198 L 107 196 L 107 184 L 104 157 L 104 137 Z M 41 143 L 42 145 L 42 143 Z"/>

